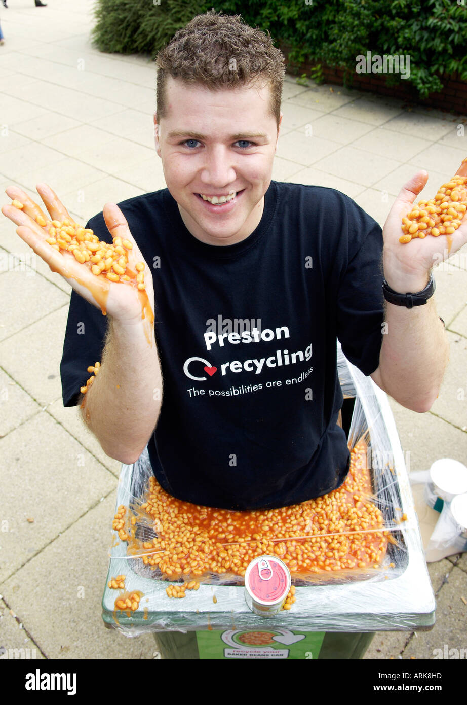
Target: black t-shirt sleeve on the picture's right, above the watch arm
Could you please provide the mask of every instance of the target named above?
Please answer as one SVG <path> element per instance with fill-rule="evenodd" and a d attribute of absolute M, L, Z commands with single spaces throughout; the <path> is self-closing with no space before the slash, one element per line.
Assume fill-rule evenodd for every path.
<path fill-rule="evenodd" d="M 380 364 L 382 230 L 356 203 L 346 199 L 346 205 L 349 250 L 337 299 L 337 338 L 347 359 L 368 376 Z"/>

